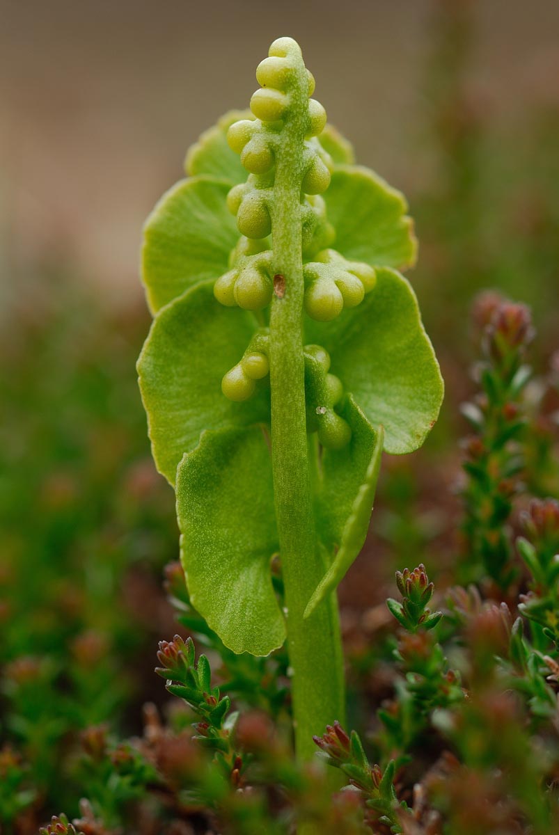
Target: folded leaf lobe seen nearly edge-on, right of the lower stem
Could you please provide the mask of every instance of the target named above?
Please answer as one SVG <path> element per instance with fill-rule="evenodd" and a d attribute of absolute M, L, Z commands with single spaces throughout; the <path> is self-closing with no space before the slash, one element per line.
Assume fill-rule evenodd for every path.
<path fill-rule="evenodd" d="M 323 485 L 318 496 L 318 527 L 324 544 L 338 544 L 333 563 L 307 604 L 305 617 L 342 581 L 363 548 L 379 480 L 384 430 L 378 432 L 348 397 L 340 414 L 349 423 L 349 448 L 323 451 Z"/>

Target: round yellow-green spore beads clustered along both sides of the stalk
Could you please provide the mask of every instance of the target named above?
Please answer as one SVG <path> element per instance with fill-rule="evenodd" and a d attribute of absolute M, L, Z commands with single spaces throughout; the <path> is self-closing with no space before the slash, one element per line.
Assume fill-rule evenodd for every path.
<path fill-rule="evenodd" d="M 231 124 L 227 141 L 241 154 L 241 164 L 249 172 L 246 183 L 235 185 L 227 195 L 227 205 L 241 232 L 241 239 L 231 252 L 231 270 L 216 281 L 217 301 L 226 306 L 259 311 L 270 304 L 274 292 L 272 249 L 272 206 L 277 154 L 282 149 L 282 129 L 287 120 L 300 118 L 298 103 L 292 101 L 297 85 L 297 69 L 302 66 L 301 50 L 291 38 L 278 38 L 257 67 L 257 81 L 262 85 L 251 99 L 256 119 L 241 119 Z M 308 70 L 308 96 L 314 91 L 314 78 Z M 297 92 L 295 90 L 295 92 Z M 316 137 L 326 124 L 326 112 L 316 99 L 307 100 L 307 134 L 303 150 L 301 180 L 301 228 L 304 305 L 308 316 L 330 321 L 343 307 L 355 307 L 365 293 L 372 290 L 376 274 L 372 266 L 347 261 L 330 248 L 335 237 L 326 217 L 326 205 L 319 195 L 330 185 L 332 159 Z M 312 360 L 318 362 L 312 362 Z M 309 430 L 316 431 L 323 446 L 343 447 L 351 431 L 334 411 L 343 395 L 338 377 L 328 374 L 330 357 L 322 347 L 305 347 L 307 377 L 313 377 L 313 389 L 320 396 L 309 404 Z M 267 329 L 262 328 L 252 339 L 242 357 L 223 378 L 222 390 L 231 400 L 242 401 L 252 396 L 257 380 L 269 372 Z M 312 424 L 315 424 L 314 426 Z"/>

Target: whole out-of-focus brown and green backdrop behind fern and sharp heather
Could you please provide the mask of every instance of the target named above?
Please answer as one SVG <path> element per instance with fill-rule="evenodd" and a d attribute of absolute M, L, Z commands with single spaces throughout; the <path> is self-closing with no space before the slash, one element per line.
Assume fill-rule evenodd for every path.
<path fill-rule="evenodd" d="M 284 34 L 358 161 L 409 197 L 447 384 L 424 450 L 387 465 L 348 635 L 375 570 L 448 553 L 476 292 L 532 307 L 541 372 L 559 347 L 556 0 L 0 0 L 0 749 L 33 772 L 30 820 L 73 812 L 80 730 L 135 731 L 164 696 L 177 534 L 135 381 L 141 225 Z"/>

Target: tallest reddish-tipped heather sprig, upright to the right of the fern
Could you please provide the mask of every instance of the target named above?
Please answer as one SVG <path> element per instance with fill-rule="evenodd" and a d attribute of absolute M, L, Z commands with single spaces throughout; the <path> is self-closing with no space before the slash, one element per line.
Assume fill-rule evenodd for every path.
<path fill-rule="evenodd" d="M 474 433 L 465 439 L 467 476 L 464 579 L 484 575 L 506 591 L 516 579 L 511 536 L 513 502 L 525 469 L 526 385 L 531 367 L 525 362 L 533 338 L 526 306 L 486 293 L 475 306 L 482 360 L 475 367 L 480 392 L 462 407 Z"/>

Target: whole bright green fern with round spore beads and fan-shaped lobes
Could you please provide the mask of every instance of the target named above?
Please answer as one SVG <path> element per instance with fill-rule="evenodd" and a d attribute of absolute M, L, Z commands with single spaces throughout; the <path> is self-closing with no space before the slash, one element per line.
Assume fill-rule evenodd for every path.
<path fill-rule="evenodd" d="M 236 653 L 287 638 L 304 759 L 343 721 L 335 590 L 381 453 L 423 443 L 443 382 L 398 272 L 416 253 L 404 197 L 326 125 L 295 41 L 257 80 L 252 112 L 201 136 L 147 220 L 138 369 L 191 603 Z"/>

